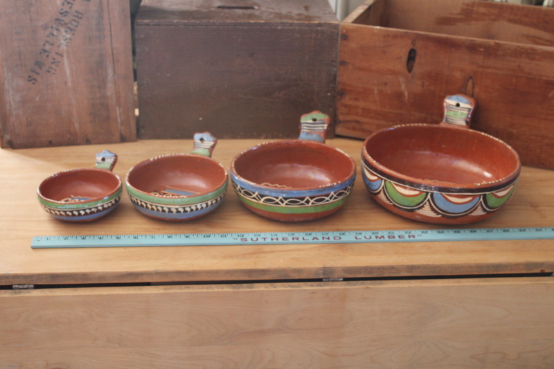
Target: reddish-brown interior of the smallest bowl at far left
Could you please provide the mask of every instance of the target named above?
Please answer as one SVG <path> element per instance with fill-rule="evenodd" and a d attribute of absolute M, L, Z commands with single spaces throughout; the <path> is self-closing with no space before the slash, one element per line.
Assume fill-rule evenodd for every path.
<path fill-rule="evenodd" d="M 101 199 L 120 186 L 116 174 L 101 169 L 77 169 L 60 172 L 45 179 L 39 193 L 53 201 Z"/>

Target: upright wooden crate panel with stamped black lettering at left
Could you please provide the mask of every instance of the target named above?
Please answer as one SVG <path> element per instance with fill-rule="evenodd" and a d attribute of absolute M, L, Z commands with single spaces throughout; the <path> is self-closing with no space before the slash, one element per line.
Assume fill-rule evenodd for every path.
<path fill-rule="evenodd" d="M 129 2 L 0 1 L 2 147 L 136 140 Z"/>

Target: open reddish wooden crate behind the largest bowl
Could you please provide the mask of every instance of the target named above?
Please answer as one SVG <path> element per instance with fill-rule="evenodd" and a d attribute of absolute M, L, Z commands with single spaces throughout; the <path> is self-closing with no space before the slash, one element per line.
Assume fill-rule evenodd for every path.
<path fill-rule="evenodd" d="M 438 123 L 452 93 L 473 127 L 554 168 L 554 9 L 470 0 L 368 0 L 341 24 L 336 133 Z"/>

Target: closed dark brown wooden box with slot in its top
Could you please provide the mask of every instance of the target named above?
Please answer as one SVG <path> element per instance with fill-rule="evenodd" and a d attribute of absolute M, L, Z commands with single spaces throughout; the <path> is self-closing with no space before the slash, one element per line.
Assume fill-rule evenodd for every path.
<path fill-rule="evenodd" d="M 327 0 L 143 0 L 135 29 L 141 138 L 297 137 L 302 114 L 334 116 Z"/>

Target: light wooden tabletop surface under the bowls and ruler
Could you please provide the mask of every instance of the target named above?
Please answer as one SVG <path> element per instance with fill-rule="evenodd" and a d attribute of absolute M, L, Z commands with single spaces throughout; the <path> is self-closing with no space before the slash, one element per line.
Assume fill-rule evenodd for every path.
<path fill-rule="evenodd" d="M 222 140 L 213 158 L 229 168 L 238 152 L 259 140 Z M 244 208 L 232 186 L 220 208 L 189 222 L 141 215 L 124 192 L 118 208 L 96 222 L 70 224 L 39 206 L 39 183 L 60 170 L 93 166 L 94 155 L 119 156 L 122 179 L 132 165 L 152 156 L 189 152 L 192 140 L 138 141 L 111 145 L 0 150 L 0 285 L 120 282 L 184 282 L 452 276 L 554 271 L 554 240 L 309 244 L 272 246 L 172 246 L 110 249 L 31 249 L 38 235 L 357 231 L 446 228 L 389 213 L 370 199 L 359 173 L 361 141 L 335 138 L 355 159 L 358 177 L 346 206 L 330 217 L 280 223 Z M 497 215 L 466 228 L 553 226 L 554 171 L 523 168 L 510 203 Z"/>

